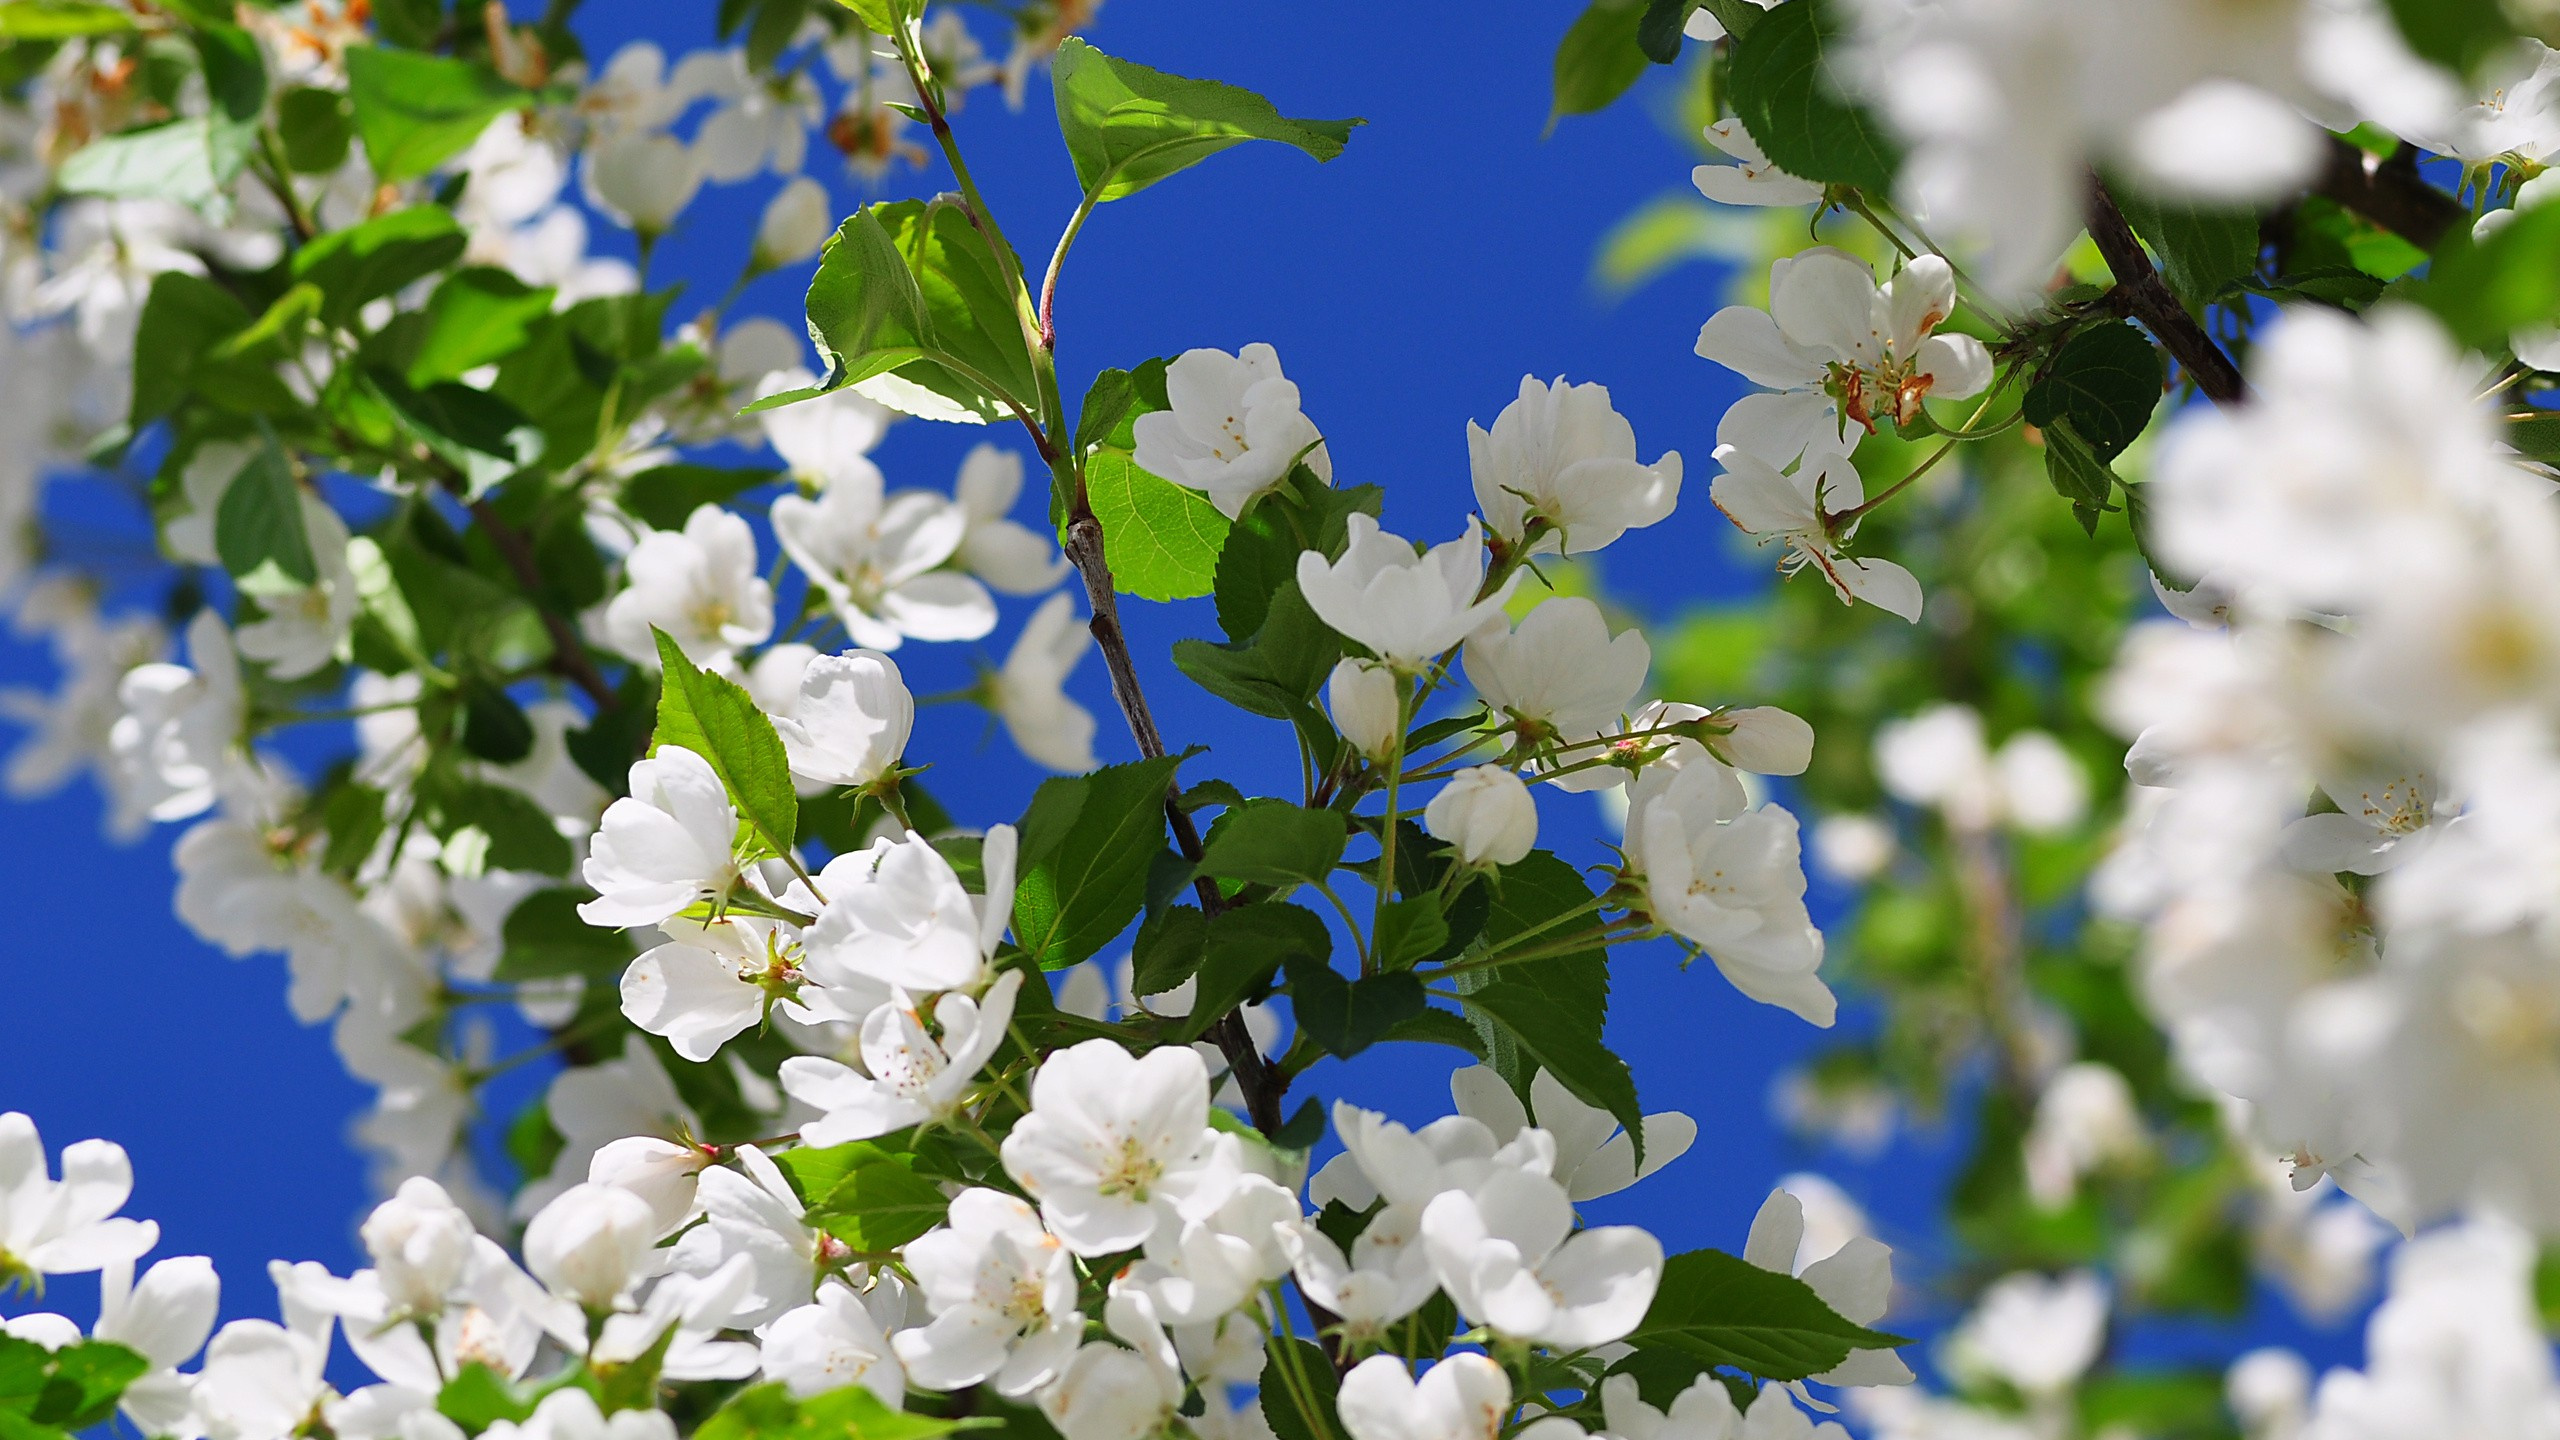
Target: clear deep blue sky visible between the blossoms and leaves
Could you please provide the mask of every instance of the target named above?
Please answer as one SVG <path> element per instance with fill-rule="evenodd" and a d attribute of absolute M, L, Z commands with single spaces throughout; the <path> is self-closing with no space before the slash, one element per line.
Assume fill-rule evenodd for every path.
<path fill-rule="evenodd" d="M 1490 423 L 1523 374 L 1597 379 L 1633 420 L 1644 456 L 1677 448 L 1690 474 L 1679 515 L 1608 551 L 1615 594 L 1654 615 L 1748 594 L 1761 571 L 1736 559 L 1731 528 L 1705 500 L 1715 418 L 1736 379 L 1690 351 L 1723 277 L 1687 266 L 1618 305 L 1587 282 L 1600 231 L 1684 187 L 1692 156 L 1644 110 L 1646 92 L 1541 141 L 1549 56 L 1572 10 L 1556 0 L 1111 0 L 1091 31 L 1111 54 L 1249 85 L 1293 115 L 1367 115 L 1370 126 L 1334 164 L 1242 146 L 1106 205 L 1060 290 L 1068 384 L 1188 346 L 1270 341 L 1329 436 L 1336 477 L 1382 484 L 1385 523 L 1436 541 L 1459 530 L 1469 505 L 1464 423 Z M 707 15 L 709 5 L 596 3 L 584 33 L 599 61 L 635 33 L 681 54 L 709 41 Z M 1075 202 L 1044 87 L 1019 115 L 980 92 L 957 123 L 980 184 L 1037 261 Z M 865 197 L 824 146 L 812 146 L 809 172 L 840 208 Z M 686 279 L 696 302 L 724 290 L 771 184 L 704 192 L 653 279 Z M 937 167 L 893 174 L 886 192 L 942 184 Z M 796 284 L 765 279 L 745 307 L 796 323 Z M 980 438 L 1014 443 L 906 423 L 878 459 L 891 484 L 947 487 Z M 1024 518 L 1037 523 L 1029 507 Z M 998 643 L 1024 610 L 1009 602 Z M 1213 633 L 1206 600 L 1134 605 L 1129 628 L 1175 746 L 1208 743 L 1206 764 L 1249 787 L 1254 776 L 1265 789 L 1295 784 L 1285 728 L 1208 700 L 1165 659 L 1175 638 Z M 916 692 L 965 684 L 975 659 L 968 646 L 899 656 Z M 51 684 L 51 666 L 0 641 L 0 684 Z M 1103 717 L 1103 758 L 1129 758 L 1096 661 L 1075 692 Z M 919 733 L 916 746 L 937 764 L 934 789 L 965 822 L 1014 817 L 1037 774 L 975 717 L 937 720 L 945 728 Z M 1600 858 L 1590 802 L 1549 799 L 1546 843 L 1577 863 Z M 113 848 L 97 815 L 87 787 L 0 802 L 0 866 L 44 897 L 33 915 L 54 915 L 23 922 L 15 956 L 0 963 L 0 1109 L 33 1112 L 54 1148 L 87 1135 L 128 1145 L 138 1171 L 128 1212 L 161 1222 L 159 1253 L 212 1256 L 228 1281 L 225 1314 L 271 1314 L 269 1258 L 315 1258 L 340 1273 L 358 1263 L 366 1191 L 340 1135 L 364 1092 L 325 1030 L 287 1015 L 279 958 L 225 961 L 172 917 L 179 828 Z M 1697 1115 L 1702 1138 L 1661 1176 L 1595 1204 L 1592 1220 L 1644 1222 L 1672 1250 L 1738 1250 L 1777 1176 L 1820 1166 L 1876 1212 L 1887 1240 L 1925 1250 L 1956 1143 L 1923 1135 L 1856 1168 L 1787 1140 L 1769 1122 L 1766 1084 L 1818 1033 L 1743 1002 L 1708 966 L 1679 974 L 1677 958 L 1667 945 L 1618 953 L 1610 1035 L 1646 1107 Z M 1349 1068 L 1316 1068 L 1308 1086 L 1426 1120 L 1446 1109 L 1452 1058 L 1388 1045 Z M 87 1294 L 64 1284 L 54 1299 L 87 1317 Z"/>

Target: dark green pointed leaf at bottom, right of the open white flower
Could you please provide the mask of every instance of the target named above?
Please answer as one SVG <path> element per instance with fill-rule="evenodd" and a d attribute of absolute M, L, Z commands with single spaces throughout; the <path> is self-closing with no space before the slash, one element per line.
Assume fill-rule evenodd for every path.
<path fill-rule="evenodd" d="M 1667 1345 L 1764 1381 L 1820 1376 L 1851 1350 L 1910 1345 L 1900 1335 L 1841 1320 L 1805 1281 L 1723 1250 L 1672 1256 L 1654 1307 L 1628 1343 Z"/>

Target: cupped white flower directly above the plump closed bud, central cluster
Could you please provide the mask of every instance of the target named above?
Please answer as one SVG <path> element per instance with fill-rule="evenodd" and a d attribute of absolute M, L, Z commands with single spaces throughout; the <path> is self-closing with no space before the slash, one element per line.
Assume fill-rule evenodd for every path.
<path fill-rule="evenodd" d="M 1482 584 L 1485 546 L 1475 515 L 1464 536 L 1416 553 L 1411 541 L 1354 510 L 1339 561 L 1326 564 L 1321 551 L 1298 556 L 1298 592 L 1316 618 L 1405 671 L 1498 623 L 1521 574 L 1477 600 Z"/>

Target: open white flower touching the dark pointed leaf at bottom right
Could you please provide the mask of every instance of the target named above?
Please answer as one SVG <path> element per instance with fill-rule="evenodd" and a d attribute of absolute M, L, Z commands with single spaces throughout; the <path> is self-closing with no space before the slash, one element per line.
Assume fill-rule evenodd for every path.
<path fill-rule="evenodd" d="M 1423 1250 L 1462 1314 L 1562 1350 L 1623 1340 L 1661 1284 L 1661 1240 L 1633 1225 L 1577 1235 L 1564 1186 L 1533 1171 L 1495 1171 L 1475 1191 L 1434 1199 Z"/>

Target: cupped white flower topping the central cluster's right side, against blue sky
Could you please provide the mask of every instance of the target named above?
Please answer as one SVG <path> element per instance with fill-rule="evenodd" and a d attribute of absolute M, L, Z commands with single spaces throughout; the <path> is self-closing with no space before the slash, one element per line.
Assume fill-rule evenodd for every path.
<path fill-rule="evenodd" d="M 1533 528 L 1531 553 L 1587 556 L 1679 502 L 1679 451 L 1638 464 L 1636 428 L 1608 389 L 1562 377 L 1523 377 L 1490 433 L 1469 420 L 1467 461 L 1485 525 L 1513 546 Z"/>

